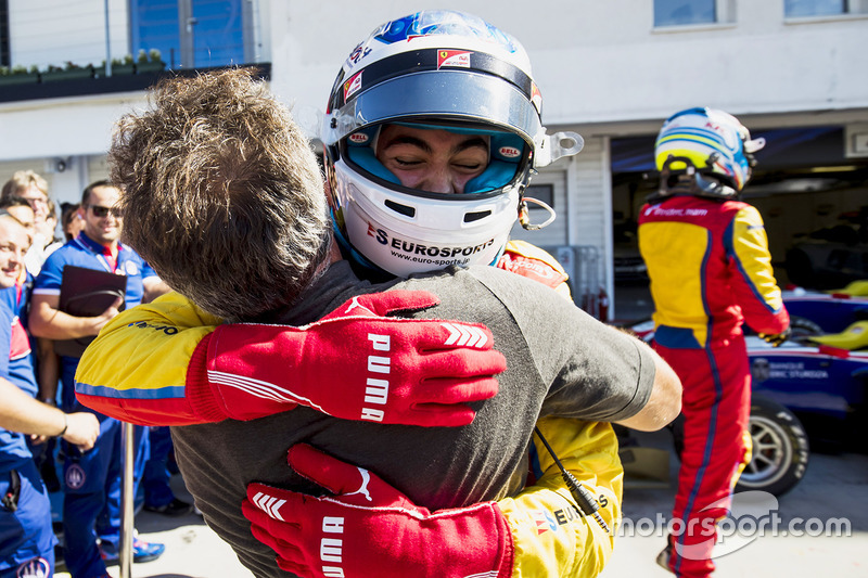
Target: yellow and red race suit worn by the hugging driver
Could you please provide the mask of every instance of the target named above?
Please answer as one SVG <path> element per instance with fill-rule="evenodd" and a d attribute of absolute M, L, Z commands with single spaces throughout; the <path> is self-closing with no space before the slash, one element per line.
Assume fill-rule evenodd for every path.
<path fill-rule="evenodd" d="M 570 298 L 566 273 L 533 245 L 510 242 L 498 266 Z M 206 342 L 219 323 L 176 293 L 124 311 L 81 358 L 76 373 L 79 399 L 132 423 L 188 425 L 224 419 L 212 412 L 213 389 L 205 370 Z M 159 331 L 127 331 L 133 325 Z M 600 515 L 613 530 L 607 534 L 592 517 L 576 514 L 560 470 L 534 436 L 534 467 L 541 475 L 534 486 L 498 502 L 515 548 L 512 575 L 597 576 L 611 556 L 621 519 L 623 468 L 614 432 L 610 424 L 558 418 L 537 425 L 564 466 L 597 497 Z"/>

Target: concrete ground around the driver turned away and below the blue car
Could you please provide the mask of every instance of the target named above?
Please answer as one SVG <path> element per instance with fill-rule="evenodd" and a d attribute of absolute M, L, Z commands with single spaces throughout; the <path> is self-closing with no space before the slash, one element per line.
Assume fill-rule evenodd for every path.
<path fill-rule="evenodd" d="M 665 528 L 652 525 L 651 521 L 669 519 L 677 466 L 673 454 L 669 487 L 625 490 L 626 523 L 617 535 L 615 552 L 602 578 L 672 576 L 654 563 L 666 539 Z M 749 494 L 742 494 L 745 497 Z M 776 505 L 770 496 L 763 498 L 767 499 L 766 505 Z M 733 503 L 739 501 L 736 494 Z M 715 558 L 715 578 L 868 577 L 865 555 L 868 551 L 868 455 L 813 453 L 805 477 L 777 500 L 777 508 L 763 514 L 767 512 L 769 518 L 775 514 L 779 517 L 778 529 L 773 530 L 769 524 L 765 535 L 749 531 L 735 536 L 732 542 L 728 542 L 731 551 L 726 553 L 724 548 L 723 555 Z M 763 514 L 754 513 L 754 518 Z M 838 528 L 846 529 L 847 525 L 850 536 L 838 531 Z M 752 529 L 750 524 L 744 527 Z M 793 536 L 791 529 L 805 535 Z M 832 536 L 826 536 L 827 530 Z M 816 536 L 818 534 L 824 535 Z"/>

